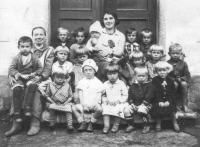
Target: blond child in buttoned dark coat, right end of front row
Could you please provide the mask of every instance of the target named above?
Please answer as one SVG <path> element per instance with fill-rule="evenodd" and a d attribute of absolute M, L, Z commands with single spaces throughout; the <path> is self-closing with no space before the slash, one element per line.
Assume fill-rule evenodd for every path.
<path fill-rule="evenodd" d="M 158 76 L 152 79 L 152 97 L 147 100 L 152 103 L 152 117 L 156 120 L 156 130 L 161 130 L 161 120 L 165 117 L 172 119 L 176 132 L 180 131 L 176 120 L 176 89 L 174 81 L 168 76 L 173 67 L 166 61 L 155 65 Z"/>

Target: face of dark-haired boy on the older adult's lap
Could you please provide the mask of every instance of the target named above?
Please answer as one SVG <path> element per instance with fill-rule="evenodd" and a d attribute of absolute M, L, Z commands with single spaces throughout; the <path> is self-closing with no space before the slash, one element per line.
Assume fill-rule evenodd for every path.
<path fill-rule="evenodd" d="M 20 42 L 18 48 L 20 53 L 24 56 L 30 54 L 32 49 L 30 42 Z"/>

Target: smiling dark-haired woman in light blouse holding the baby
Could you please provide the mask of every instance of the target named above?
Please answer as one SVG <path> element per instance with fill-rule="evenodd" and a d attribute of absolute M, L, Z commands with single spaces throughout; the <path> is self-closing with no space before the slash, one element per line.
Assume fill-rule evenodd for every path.
<path fill-rule="evenodd" d="M 109 62 L 117 62 L 124 52 L 125 36 L 116 26 L 119 24 L 117 15 L 105 12 L 101 20 L 103 27 L 97 46 L 93 49 L 93 58 L 99 66 L 97 77 L 106 80 L 105 67 Z"/>

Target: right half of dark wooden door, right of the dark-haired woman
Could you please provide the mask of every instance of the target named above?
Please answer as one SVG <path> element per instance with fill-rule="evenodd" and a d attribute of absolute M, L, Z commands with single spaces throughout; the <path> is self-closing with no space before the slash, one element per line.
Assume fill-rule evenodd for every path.
<path fill-rule="evenodd" d="M 122 32 L 132 26 L 138 31 L 148 27 L 156 34 L 156 0 L 104 0 L 103 8 L 117 13 Z"/>

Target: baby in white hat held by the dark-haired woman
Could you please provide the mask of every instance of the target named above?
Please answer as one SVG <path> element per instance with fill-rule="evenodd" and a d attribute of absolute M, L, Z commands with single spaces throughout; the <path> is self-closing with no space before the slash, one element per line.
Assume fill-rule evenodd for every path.
<path fill-rule="evenodd" d="M 95 51 L 95 46 L 101 36 L 102 26 L 99 21 L 95 21 L 89 28 L 90 39 L 87 41 L 86 48 Z"/>

